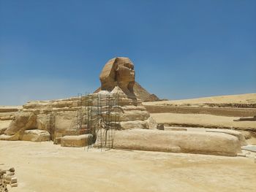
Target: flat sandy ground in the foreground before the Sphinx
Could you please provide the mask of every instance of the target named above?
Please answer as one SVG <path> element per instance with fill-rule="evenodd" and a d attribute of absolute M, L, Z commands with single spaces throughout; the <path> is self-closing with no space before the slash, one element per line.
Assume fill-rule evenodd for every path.
<path fill-rule="evenodd" d="M 18 192 L 255 191 L 252 158 L 71 148 L 0 141 L 0 163 L 15 166 Z"/>

